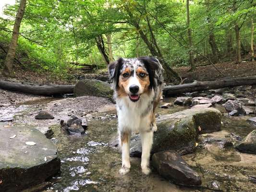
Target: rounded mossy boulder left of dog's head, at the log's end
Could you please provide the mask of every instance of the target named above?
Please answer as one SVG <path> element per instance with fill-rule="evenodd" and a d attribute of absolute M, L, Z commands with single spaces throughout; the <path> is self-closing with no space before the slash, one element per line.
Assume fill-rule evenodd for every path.
<path fill-rule="evenodd" d="M 85 79 L 75 85 L 74 96 L 98 96 L 112 99 L 113 90 L 107 82 Z"/>

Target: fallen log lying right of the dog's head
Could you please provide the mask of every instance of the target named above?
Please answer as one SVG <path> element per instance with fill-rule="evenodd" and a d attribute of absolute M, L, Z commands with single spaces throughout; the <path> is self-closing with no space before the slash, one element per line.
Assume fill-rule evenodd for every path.
<path fill-rule="evenodd" d="M 173 96 L 181 93 L 205 91 L 224 87 L 256 84 L 256 77 L 234 77 L 217 81 L 194 81 L 191 84 L 168 85 L 163 88 L 163 95 Z"/>

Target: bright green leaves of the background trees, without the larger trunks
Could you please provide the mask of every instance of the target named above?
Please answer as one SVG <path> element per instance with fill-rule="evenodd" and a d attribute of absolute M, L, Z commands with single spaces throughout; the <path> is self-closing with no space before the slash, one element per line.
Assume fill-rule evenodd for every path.
<path fill-rule="evenodd" d="M 26 57 L 24 67 L 65 74 L 71 63 L 104 65 L 96 46 L 101 36 L 109 53 L 106 35 L 111 34 L 114 59 L 151 55 L 135 23 L 153 45 L 152 32 L 164 59 L 170 66 L 188 64 L 186 2 L 183 0 L 29 0 L 19 37 L 18 52 Z M 5 13 L 15 16 L 17 6 Z M 227 34 L 239 23 L 242 42 L 250 43 L 250 18 L 256 6 L 250 0 L 190 1 L 190 27 L 193 49 L 212 57 L 209 33 L 215 36 L 220 55 L 226 55 Z M 0 19 L 0 40 L 11 37 L 13 20 Z M 154 46 L 153 46 L 154 47 Z M 195 57 L 200 55 L 195 54 Z"/>

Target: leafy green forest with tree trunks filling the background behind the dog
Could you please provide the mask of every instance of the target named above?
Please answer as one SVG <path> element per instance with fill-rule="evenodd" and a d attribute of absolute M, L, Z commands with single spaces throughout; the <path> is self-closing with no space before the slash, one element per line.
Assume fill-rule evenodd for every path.
<path fill-rule="evenodd" d="M 79 68 L 106 68 L 120 57 L 150 55 L 160 60 L 166 79 L 179 82 L 175 68 L 180 66 L 193 71 L 196 65 L 255 59 L 254 0 L 20 3 L 24 7 L 14 32 L 18 40 L 12 47 L 9 42 L 19 3 L 4 8 L 9 17 L 0 19 L 1 51 L 7 53 L 10 48 L 13 55 L 17 47 L 14 65 L 32 71 L 67 77 L 79 73 Z M 4 53 L 0 66 L 3 69 L 5 65 L 4 74 L 10 75 L 12 66 L 7 67 Z"/>

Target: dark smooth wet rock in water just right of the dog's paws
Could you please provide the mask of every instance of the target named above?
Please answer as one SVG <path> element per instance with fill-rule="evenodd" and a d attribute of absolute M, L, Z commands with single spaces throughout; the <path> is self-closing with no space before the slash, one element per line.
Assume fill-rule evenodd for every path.
<path fill-rule="evenodd" d="M 153 155 L 153 167 L 159 175 L 182 185 L 201 185 L 201 177 L 191 169 L 183 158 L 175 151 L 164 151 Z"/>

